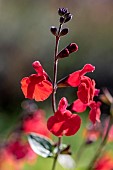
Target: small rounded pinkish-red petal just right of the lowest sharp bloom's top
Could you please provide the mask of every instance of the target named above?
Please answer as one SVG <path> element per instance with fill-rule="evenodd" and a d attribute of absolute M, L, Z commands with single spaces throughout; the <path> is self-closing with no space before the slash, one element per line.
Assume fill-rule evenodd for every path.
<path fill-rule="evenodd" d="M 87 105 L 82 103 L 81 100 L 77 99 L 73 102 L 71 110 L 74 112 L 84 112 Z"/>

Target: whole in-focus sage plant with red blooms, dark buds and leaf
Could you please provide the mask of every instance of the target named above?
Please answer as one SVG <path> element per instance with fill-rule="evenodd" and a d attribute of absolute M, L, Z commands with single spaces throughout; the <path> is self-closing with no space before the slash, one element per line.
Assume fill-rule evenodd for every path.
<path fill-rule="evenodd" d="M 99 90 L 95 88 L 95 81 L 85 76 L 88 72 L 93 72 L 95 70 L 94 66 L 86 64 L 83 69 L 75 71 L 57 81 L 58 61 L 65 57 L 69 57 L 71 53 L 78 51 L 78 45 L 76 43 L 70 43 L 59 52 L 58 47 L 60 38 L 68 34 L 68 28 L 62 28 L 62 26 L 72 19 L 72 14 L 68 12 L 67 8 L 59 8 L 58 14 L 60 15 L 59 28 L 57 29 L 55 26 L 52 26 L 50 29 L 51 33 L 55 36 L 56 42 L 54 51 L 53 81 L 50 80 L 39 61 L 33 62 L 33 68 L 36 73 L 21 80 L 21 89 L 25 98 L 44 101 L 52 94 L 52 109 L 54 114 L 48 119 L 47 128 L 52 134 L 58 137 L 57 144 L 49 138 L 45 138 L 36 133 L 29 133 L 28 137 L 32 149 L 37 154 L 43 157 L 54 158 L 52 170 L 55 170 L 59 155 L 64 153 L 64 151 L 65 154 L 70 154 L 70 147 L 62 144 L 61 139 L 62 136 L 74 135 L 79 130 L 81 118 L 77 112 L 83 112 L 87 107 L 90 107 L 91 111 L 89 113 L 89 119 L 93 124 L 95 124 L 96 121 L 100 122 L 100 103 L 94 101 L 94 97 L 98 95 Z M 67 99 L 62 97 L 57 108 L 57 88 L 69 86 L 78 88 L 78 99 L 69 105 Z M 76 114 L 73 114 L 72 112 L 76 112 Z"/>

